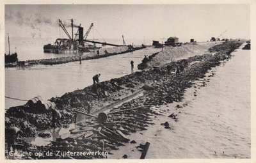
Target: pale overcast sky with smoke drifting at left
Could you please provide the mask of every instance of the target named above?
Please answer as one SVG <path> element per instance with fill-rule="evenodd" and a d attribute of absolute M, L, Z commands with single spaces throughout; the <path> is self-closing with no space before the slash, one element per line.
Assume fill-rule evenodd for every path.
<path fill-rule="evenodd" d="M 60 37 L 58 19 L 80 23 L 84 33 L 93 22 L 89 38 L 138 38 L 160 40 L 177 36 L 206 41 L 211 36 L 250 38 L 248 4 L 102 4 L 5 5 L 5 33 L 12 36 Z M 67 27 L 71 35 L 70 27 Z M 74 29 L 74 32 L 77 29 Z M 99 33 L 98 33 L 99 31 Z M 63 32 L 61 31 L 61 36 Z"/>

